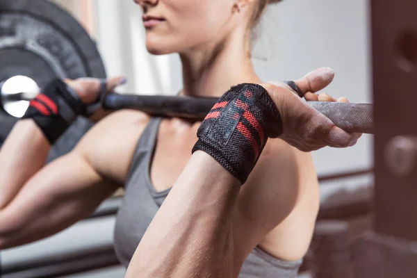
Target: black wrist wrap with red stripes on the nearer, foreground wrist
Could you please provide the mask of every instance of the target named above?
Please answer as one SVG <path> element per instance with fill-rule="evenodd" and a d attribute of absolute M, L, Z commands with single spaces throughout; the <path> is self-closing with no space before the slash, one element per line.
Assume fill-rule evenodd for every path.
<path fill-rule="evenodd" d="M 261 85 L 240 84 L 208 113 L 193 152 L 210 154 L 243 184 L 268 138 L 277 138 L 281 129 L 281 116 L 268 92 Z"/>

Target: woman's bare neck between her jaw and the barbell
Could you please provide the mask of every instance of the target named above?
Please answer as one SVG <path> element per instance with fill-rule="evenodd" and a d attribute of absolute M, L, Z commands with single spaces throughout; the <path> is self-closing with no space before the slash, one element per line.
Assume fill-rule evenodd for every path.
<path fill-rule="evenodd" d="M 239 40 L 230 40 L 217 47 L 205 45 L 204 49 L 196 47 L 180 54 L 183 65 L 181 95 L 220 97 L 232 85 L 260 83 L 247 47 L 240 44 Z"/>

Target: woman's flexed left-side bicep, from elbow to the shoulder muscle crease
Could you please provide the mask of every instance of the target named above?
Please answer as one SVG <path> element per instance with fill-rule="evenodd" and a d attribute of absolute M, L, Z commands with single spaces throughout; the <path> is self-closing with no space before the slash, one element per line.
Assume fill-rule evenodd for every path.
<path fill-rule="evenodd" d="M 56 234 L 90 215 L 115 190 L 83 156 L 56 159 L 0 211 L 0 249 Z"/>

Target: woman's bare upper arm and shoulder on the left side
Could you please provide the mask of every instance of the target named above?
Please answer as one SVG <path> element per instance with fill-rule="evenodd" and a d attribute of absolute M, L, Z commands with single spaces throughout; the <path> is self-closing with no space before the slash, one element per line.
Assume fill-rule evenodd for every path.
<path fill-rule="evenodd" d="M 109 115 L 70 154 L 29 179 L 0 211 L 0 250 L 56 234 L 95 211 L 121 185 L 144 123 L 140 119 L 143 115 L 131 112 Z M 129 131 L 133 122 L 138 129 Z"/>

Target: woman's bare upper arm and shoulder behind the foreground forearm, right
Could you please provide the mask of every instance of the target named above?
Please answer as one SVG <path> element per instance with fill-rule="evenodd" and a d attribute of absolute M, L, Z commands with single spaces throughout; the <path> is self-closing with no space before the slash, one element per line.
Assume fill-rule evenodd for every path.
<path fill-rule="evenodd" d="M 318 181 L 311 154 L 292 147 L 265 159 L 240 193 L 236 250 L 247 256 L 259 246 L 284 261 L 297 261 L 309 247 L 318 205 Z M 244 186 L 245 187 L 245 186 Z"/>

